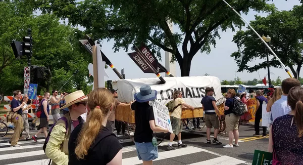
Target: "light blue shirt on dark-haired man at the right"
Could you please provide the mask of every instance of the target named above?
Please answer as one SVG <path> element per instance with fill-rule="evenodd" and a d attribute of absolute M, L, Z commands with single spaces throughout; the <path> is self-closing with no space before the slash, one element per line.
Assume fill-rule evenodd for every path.
<path fill-rule="evenodd" d="M 288 114 L 291 111 L 289 105 L 287 105 L 287 96 L 282 95 L 281 99 L 277 100 L 271 108 L 273 120 L 276 118 Z"/>

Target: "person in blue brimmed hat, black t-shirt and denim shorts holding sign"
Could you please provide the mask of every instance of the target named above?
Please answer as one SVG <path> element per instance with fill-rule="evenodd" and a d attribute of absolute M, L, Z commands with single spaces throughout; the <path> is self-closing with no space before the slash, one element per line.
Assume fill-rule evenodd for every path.
<path fill-rule="evenodd" d="M 155 125 L 154 111 L 149 101 L 157 99 L 156 90 L 151 90 L 150 86 L 142 86 L 140 92 L 134 94 L 134 98 L 130 108 L 135 111 L 134 140 L 137 155 L 139 160 L 143 160 L 143 165 L 153 164 L 153 160 L 158 158 L 157 142 L 156 145 L 153 144 L 153 131 L 167 133 L 169 130 Z"/>

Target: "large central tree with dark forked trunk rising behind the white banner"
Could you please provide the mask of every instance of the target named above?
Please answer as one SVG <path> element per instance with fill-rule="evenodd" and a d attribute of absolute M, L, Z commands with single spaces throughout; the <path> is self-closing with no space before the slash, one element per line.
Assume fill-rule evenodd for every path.
<path fill-rule="evenodd" d="M 115 51 L 120 48 L 128 51 L 130 45 L 144 43 L 158 57 L 161 49 L 171 52 L 172 61 L 177 60 L 180 66 L 181 76 L 189 76 L 192 58 L 198 51 L 211 52 L 216 38 L 220 38 L 220 30 L 244 25 L 221 0 L 38 0 L 36 3 L 43 13 L 68 18 L 69 23 L 83 26 L 94 38 L 114 39 Z M 266 1 L 234 0 L 229 4 L 243 14 L 249 9 L 266 12 L 274 9 Z M 172 32 L 170 24 L 175 24 L 181 33 Z"/>

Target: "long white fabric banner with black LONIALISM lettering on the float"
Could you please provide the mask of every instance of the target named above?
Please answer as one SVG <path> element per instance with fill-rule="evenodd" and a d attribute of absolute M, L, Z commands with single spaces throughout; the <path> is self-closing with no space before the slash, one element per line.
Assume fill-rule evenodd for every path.
<path fill-rule="evenodd" d="M 201 99 L 206 95 L 205 88 L 214 88 L 216 100 L 223 98 L 221 84 L 218 77 L 214 76 L 191 76 L 191 77 L 163 77 L 165 84 L 159 84 L 159 78 L 120 79 L 112 82 L 113 88 L 118 89 L 118 100 L 129 103 L 134 100 L 134 93 L 140 92 L 140 87 L 149 85 L 156 90 L 157 100 L 166 104 L 172 100 L 175 90 L 180 90 L 182 99 L 193 107 L 201 107 Z"/>

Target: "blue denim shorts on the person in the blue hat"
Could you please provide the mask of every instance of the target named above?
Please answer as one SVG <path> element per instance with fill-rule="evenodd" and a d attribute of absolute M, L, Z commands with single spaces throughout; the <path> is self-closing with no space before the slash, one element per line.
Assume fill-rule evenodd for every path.
<path fill-rule="evenodd" d="M 158 158 L 158 146 L 154 147 L 153 143 L 135 142 L 139 160 L 149 161 Z"/>

